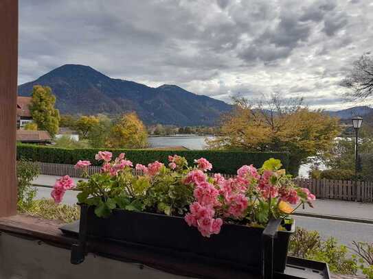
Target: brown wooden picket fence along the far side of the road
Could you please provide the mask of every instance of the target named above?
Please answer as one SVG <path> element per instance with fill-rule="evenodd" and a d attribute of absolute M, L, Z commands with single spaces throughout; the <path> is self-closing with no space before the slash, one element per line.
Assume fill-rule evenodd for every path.
<path fill-rule="evenodd" d="M 74 178 L 82 177 L 82 170 L 75 169 L 74 165 L 54 164 L 49 162 L 38 162 L 42 174 L 46 175 L 70 175 Z M 100 172 L 100 167 L 89 167 L 88 174 Z M 135 171 L 136 175 L 141 175 L 141 171 Z M 234 175 L 223 174 L 225 178 L 232 178 Z M 307 188 L 314 193 L 318 199 L 355 199 L 359 202 L 373 202 L 373 182 L 358 181 L 355 187 L 354 181 L 347 180 L 327 180 L 327 179 L 305 179 L 295 178 L 295 184 Z"/>

